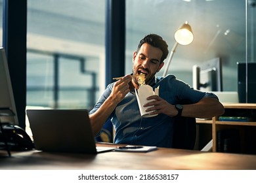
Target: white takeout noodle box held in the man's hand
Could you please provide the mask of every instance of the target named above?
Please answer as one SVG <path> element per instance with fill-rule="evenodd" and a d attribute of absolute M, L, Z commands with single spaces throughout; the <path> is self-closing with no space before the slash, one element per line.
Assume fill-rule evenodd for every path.
<path fill-rule="evenodd" d="M 151 86 L 149 86 L 148 84 L 145 84 L 145 85 L 140 86 L 138 91 L 135 89 L 135 93 L 136 93 L 138 105 L 139 105 L 139 108 L 140 108 L 140 115 L 142 116 L 142 118 L 149 118 L 149 117 L 153 117 L 153 116 L 158 116 L 158 114 L 150 115 L 149 114 L 150 112 L 145 111 L 150 106 L 149 107 L 143 107 L 143 105 L 146 104 L 146 103 L 149 103 L 150 101 L 154 101 L 154 99 L 147 100 L 146 98 L 151 96 L 151 95 L 159 95 L 159 88 L 155 88 L 155 91 L 154 91 Z"/>

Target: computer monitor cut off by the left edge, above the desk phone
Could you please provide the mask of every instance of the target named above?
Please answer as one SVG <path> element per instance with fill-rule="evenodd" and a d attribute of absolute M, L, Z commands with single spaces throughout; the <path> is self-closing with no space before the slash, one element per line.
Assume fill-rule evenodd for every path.
<path fill-rule="evenodd" d="M 5 49 L 0 48 L 0 109 L 10 108 L 16 114 L 16 106 L 14 103 L 14 96 L 12 93 L 12 84 L 9 74 L 9 67 Z M 18 117 L 14 116 L 0 116 L 1 122 L 9 122 L 18 125 Z"/>

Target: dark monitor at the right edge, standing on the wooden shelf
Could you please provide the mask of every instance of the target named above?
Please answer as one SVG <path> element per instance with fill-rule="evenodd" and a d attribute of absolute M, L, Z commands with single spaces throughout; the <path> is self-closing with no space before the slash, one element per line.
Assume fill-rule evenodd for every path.
<path fill-rule="evenodd" d="M 256 62 L 237 63 L 238 97 L 240 103 L 256 103 Z"/>

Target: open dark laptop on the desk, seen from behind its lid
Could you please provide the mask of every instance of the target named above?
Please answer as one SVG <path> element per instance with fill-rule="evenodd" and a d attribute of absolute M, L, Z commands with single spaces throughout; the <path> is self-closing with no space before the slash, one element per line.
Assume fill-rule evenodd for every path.
<path fill-rule="evenodd" d="M 35 149 L 46 152 L 91 153 L 114 150 L 96 147 L 87 110 L 26 110 Z"/>

